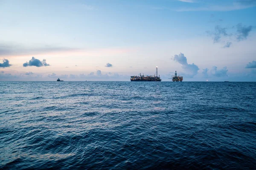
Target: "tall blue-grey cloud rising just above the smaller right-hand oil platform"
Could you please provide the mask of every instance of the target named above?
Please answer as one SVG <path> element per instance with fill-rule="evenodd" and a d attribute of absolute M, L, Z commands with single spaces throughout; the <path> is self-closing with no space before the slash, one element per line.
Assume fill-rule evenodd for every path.
<path fill-rule="evenodd" d="M 186 71 L 187 77 L 192 78 L 196 74 L 198 74 L 198 70 L 199 70 L 198 66 L 195 65 L 194 63 L 188 64 L 184 54 L 180 53 L 179 55 L 175 55 L 172 59 L 182 65 L 182 68 Z"/>

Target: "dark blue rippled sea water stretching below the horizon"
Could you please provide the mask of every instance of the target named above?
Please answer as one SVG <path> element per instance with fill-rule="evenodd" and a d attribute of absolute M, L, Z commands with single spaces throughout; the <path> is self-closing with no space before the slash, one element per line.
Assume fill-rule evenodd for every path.
<path fill-rule="evenodd" d="M 255 82 L 0 82 L 0 169 L 255 164 Z"/>

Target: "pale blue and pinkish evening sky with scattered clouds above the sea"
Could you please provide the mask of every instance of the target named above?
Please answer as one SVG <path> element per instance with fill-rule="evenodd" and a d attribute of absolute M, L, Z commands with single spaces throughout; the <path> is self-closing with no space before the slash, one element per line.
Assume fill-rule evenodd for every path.
<path fill-rule="evenodd" d="M 0 0 L 0 81 L 256 81 L 256 0 Z"/>

